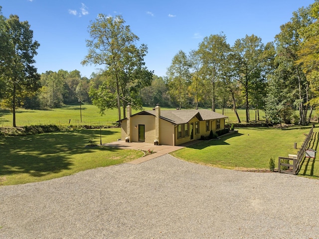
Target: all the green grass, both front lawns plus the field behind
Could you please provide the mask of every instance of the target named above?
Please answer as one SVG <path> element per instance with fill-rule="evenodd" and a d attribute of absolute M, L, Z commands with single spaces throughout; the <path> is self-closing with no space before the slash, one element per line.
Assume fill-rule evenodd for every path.
<path fill-rule="evenodd" d="M 146 108 L 149 110 L 151 108 Z M 165 108 L 162 108 L 165 110 Z M 172 110 L 172 109 L 170 109 Z M 137 111 L 133 111 L 136 113 Z M 217 110 L 221 113 L 221 110 Z M 245 110 L 238 110 L 244 121 Z M 235 122 L 232 110 L 225 110 L 229 122 Z M 251 111 L 251 116 L 254 111 Z M 232 115 L 232 116 L 231 116 Z M 261 115 L 262 117 L 263 115 Z M 0 126 L 11 125 L 12 114 L 0 110 Z M 17 125 L 37 124 L 81 124 L 79 106 L 64 106 L 59 109 L 37 111 L 17 111 Z M 117 111 L 108 110 L 101 116 L 93 105 L 82 106 L 82 124 L 108 125 L 117 121 Z M 226 136 L 220 140 L 203 141 L 194 146 L 174 152 L 175 157 L 186 161 L 227 169 L 268 169 L 270 158 L 277 167 L 279 156 L 297 154 L 294 143 L 300 147 L 310 128 L 272 129 L 238 128 L 237 135 Z M 319 130 L 310 147 L 319 150 Z M 102 143 L 120 138 L 120 129 L 103 129 Z M 107 147 L 85 148 L 93 139 L 100 141 L 100 130 L 46 133 L 39 135 L 0 137 L 0 185 L 38 182 L 71 175 L 96 167 L 105 167 L 134 160 L 142 152 L 120 150 Z M 301 164 L 300 175 L 319 178 L 319 163 L 316 159 L 305 159 Z"/>

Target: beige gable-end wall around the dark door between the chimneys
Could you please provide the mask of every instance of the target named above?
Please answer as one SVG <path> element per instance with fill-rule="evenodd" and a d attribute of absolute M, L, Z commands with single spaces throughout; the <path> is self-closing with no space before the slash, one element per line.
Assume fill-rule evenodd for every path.
<path fill-rule="evenodd" d="M 131 141 L 139 142 L 139 124 L 145 125 L 145 143 L 154 144 L 155 140 L 155 116 L 136 115 L 131 117 Z"/>

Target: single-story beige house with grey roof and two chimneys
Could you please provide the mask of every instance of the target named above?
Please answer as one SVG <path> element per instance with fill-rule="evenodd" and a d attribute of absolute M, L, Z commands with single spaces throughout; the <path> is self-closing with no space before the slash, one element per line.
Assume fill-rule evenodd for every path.
<path fill-rule="evenodd" d="M 129 104 L 127 117 L 119 120 L 122 140 L 127 142 L 180 145 L 208 136 L 225 128 L 228 116 L 210 110 L 160 110 L 157 104 L 153 110 L 144 110 L 132 115 Z"/>

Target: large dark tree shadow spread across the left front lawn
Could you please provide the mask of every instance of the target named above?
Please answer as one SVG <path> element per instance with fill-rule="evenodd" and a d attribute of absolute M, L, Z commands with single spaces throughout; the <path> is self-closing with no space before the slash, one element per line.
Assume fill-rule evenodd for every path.
<path fill-rule="evenodd" d="M 102 135 L 116 132 L 103 130 Z M 72 167 L 71 156 L 90 151 L 118 151 L 112 147 L 86 148 L 89 139 L 99 139 L 100 130 L 0 137 L 0 175 L 29 174 L 42 177 Z"/>

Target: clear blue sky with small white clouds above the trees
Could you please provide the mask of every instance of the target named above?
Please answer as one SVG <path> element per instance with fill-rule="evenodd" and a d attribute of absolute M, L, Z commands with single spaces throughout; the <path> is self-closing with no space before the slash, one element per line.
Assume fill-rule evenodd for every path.
<path fill-rule="evenodd" d="M 121 14 L 139 43 L 149 47 L 149 70 L 164 76 L 173 56 L 197 49 L 203 37 L 224 32 L 232 45 L 246 34 L 273 41 L 293 11 L 314 0 L 0 0 L 2 14 L 27 20 L 40 43 L 39 73 L 79 70 L 90 77 L 99 66 L 82 66 L 90 21 L 98 13 Z"/>

